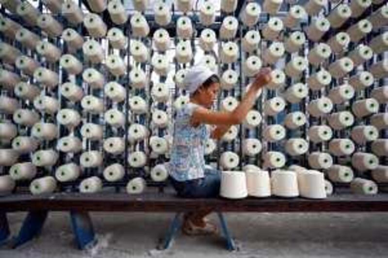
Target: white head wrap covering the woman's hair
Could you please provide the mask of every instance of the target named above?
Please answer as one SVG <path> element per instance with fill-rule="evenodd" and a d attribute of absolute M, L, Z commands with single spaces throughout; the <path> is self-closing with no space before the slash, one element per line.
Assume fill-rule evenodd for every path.
<path fill-rule="evenodd" d="M 209 79 L 211 75 L 214 74 L 215 72 L 206 66 L 194 66 L 187 71 L 183 83 L 186 90 L 192 94 L 197 88 L 199 88 L 199 86 L 201 86 L 207 79 Z"/>

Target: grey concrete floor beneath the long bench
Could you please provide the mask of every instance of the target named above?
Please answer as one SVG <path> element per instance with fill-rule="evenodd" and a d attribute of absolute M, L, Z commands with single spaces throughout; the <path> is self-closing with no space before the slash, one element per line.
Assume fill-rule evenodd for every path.
<path fill-rule="evenodd" d="M 25 213 L 9 214 L 15 234 Z M 99 243 L 77 250 L 63 212 L 49 215 L 39 238 L 1 258 L 127 257 L 388 257 L 387 213 L 228 213 L 238 252 L 228 252 L 217 237 L 179 234 L 167 251 L 155 249 L 173 218 L 170 213 L 91 213 Z M 211 216 L 215 220 L 215 216 Z"/>

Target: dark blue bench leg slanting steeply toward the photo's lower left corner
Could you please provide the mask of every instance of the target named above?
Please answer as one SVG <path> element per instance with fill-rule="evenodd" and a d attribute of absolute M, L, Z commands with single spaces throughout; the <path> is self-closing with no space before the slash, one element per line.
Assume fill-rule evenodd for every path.
<path fill-rule="evenodd" d="M 47 210 L 30 211 L 24 219 L 19 234 L 11 243 L 12 248 L 16 248 L 40 234 L 47 219 Z"/>

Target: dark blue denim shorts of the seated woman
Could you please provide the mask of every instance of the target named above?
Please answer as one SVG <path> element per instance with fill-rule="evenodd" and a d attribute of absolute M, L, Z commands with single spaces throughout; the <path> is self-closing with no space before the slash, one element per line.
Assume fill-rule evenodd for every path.
<path fill-rule="evenodd" d="M 177 181 L 170 176 L 170 182 L 180 197 L 212 198 L 219 196 L 221 172 L 216 169 L 205 169 L 205 177 Z"/>

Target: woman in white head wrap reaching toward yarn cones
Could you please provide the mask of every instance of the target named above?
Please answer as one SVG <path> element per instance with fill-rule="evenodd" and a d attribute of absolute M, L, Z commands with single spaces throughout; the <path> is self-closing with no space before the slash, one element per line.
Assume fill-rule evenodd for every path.
<path fill-rule="evenodd" d="M 184 84 L 190 101 L 177 112 L 173 147 L 168 163 L 170 181 L 178 196 L 211 198 L 220 191 L 220 171 L 205 168 L 204 146 L 207 139 L 221 138 L 233 124 L 240 124 L 253 107 L 258 91 L 271 81 L 271 69 L 257 73 L 240 104 L 230 112 L 211 109 L 220 79 L 210 69 L 194 66 L 186 73 Z M 208 131 L 209 125 L 215 129 Z M 188 235 L 212 234 L 217 228 L 205 217 L 211 209 L 186 213 L 182 230 Z"/>

